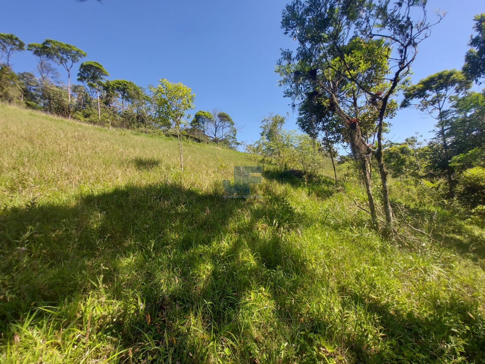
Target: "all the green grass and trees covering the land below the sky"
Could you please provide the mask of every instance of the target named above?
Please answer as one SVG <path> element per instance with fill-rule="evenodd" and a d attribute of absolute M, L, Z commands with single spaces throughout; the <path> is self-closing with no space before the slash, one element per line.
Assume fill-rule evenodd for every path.
<path fill-rule="evenodd" d="M 412 84 L 426 1 L 293 0 L 276 72 L 302 133 L 269 114 L 244 153 L 182 83 L 0 33 L 0 362 L 482 363 L 474 20 L 461 70 Z M 13 72 L 23 50 L 38 75 Z M 436 136 L 388 141 L 405 107 Z M 248 164 L 262 198 L 224 198 Z"/>

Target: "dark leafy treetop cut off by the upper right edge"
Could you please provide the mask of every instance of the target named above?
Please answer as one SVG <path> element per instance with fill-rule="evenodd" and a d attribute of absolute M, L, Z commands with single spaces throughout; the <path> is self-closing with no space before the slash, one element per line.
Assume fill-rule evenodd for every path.
<path fill-rule="evenodd" d="M 469 80 L 481 83 L 480 79 L 485 76 L 485 13 L 476 15 L 474 20 L 473 29 L 477 34 L 470 35 L 471 48 L 465 55 L 463 73 Z"/>

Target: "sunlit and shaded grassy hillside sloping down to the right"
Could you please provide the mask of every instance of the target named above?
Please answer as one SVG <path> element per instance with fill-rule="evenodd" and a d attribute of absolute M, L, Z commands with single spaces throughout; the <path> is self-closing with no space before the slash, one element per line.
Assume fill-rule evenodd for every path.
<path fill-rule="evenodd" d="M 483 261 L 382 240 L 355 181 L 224 199 L 243 153 L 177 153 L 0 105 L 1 363 L 483 362 Z"/>

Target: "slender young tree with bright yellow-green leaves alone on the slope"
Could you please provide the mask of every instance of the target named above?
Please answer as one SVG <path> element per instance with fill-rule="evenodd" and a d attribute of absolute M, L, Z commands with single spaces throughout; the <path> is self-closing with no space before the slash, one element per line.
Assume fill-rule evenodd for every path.
<path fill-rule="evenodd" d="M 183 83 L 172 83 L 161 79 L 157 87 L 151 87 L 155 101 L 155 112 L 162 119 L 171 120 L 177 130 L 180 170 L 183 172 L 183 150 L 180 125 L 182 118 L 190 118 L 187 111 L 194 108 L 195 94 Z"/>

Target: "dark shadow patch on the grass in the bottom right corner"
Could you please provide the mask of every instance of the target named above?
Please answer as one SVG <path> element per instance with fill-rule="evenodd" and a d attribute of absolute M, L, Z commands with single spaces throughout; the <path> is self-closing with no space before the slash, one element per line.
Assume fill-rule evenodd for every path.
<path fill-rule="evenodd" d="M 345 309 L 363 312 L 369 325 L 380 327 L 382 349 L 372 350 L 365 331 L 349 332 L 347 346 L 358 362 L 374 363 L 423 362 L 435 360 L 440 362 L 446 356 L 465 352 L 470 363 L 479 363 L 485 357 L 485 331 L 481 323 L 472 318 L 468 312 L 475 308 L 463 300 L 452 297 L 448 301 L 433 303 L 433 313 L 419 316 L 403 310 L 395 304 L 379 301 L 368 294 L 359 294 L 347 287 L 340 287 L 342 306 Z M 357 323 L 358 325 L 358 323 Z M 457 330 L 467 325 L 474 335 Z M 461 331 L 461 332 L 460 332 Z M 452 343 L 444 345 L 444 343 Z"/>

